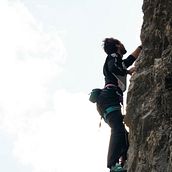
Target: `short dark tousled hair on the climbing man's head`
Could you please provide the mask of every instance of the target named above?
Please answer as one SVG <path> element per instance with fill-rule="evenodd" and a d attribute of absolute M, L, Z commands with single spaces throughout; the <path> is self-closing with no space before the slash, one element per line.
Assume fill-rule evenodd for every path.
<path fill-rule="evenodd" d="M 105 38 L 103 40 L 103 49 L 106 52 L 106 54 L 112 54 L 112 53 L 116 53 L 118 48 L 117 48 L 117 44 L 119 44 L 120 41 L 114 38 Z"/>

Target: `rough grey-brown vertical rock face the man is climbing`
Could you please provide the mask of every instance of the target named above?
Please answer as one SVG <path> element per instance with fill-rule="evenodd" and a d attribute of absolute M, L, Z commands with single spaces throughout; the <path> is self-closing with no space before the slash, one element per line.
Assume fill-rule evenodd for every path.
<path fill-rule="evenodd" d="M 143 50 L 125 118 L 128 172 L 172 172 L 172 0 L 144 0 L 142 8 Z"/>

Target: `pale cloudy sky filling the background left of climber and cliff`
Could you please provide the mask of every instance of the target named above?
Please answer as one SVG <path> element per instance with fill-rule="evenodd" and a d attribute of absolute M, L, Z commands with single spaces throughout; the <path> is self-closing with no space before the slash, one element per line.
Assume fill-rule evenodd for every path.
<path fill-rule="evenodd" d="M 105 37 L 140 44 L 142 1 L 0 0 L 0 171 L 104 172 Z"/>

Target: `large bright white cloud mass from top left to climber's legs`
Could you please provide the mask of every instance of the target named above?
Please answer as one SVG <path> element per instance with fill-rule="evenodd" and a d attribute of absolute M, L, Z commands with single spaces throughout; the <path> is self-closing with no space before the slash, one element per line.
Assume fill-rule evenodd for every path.
<path fill-rule="evenodd" d="M 45 32 L 20 1 L 1 1 L 0 24 L 0 129 L 17 160 L 32 172 L 104 171 L 108 140 L 94 105 L 52 85 L 65 54 L 57 32 Z"/>

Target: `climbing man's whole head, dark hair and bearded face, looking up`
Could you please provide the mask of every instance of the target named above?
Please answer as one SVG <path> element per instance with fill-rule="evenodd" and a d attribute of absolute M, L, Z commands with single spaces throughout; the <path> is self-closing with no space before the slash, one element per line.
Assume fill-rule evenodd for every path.
<path fill-rule="evenodd" d="M 106 38 L 103 42 L 104 51 L 108 55 L 112 53 L 119 53 L 123 56 L 127 52 L 124 45 L 117 39 Z"/>

